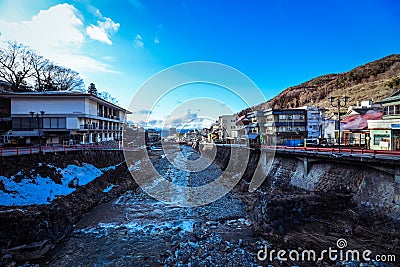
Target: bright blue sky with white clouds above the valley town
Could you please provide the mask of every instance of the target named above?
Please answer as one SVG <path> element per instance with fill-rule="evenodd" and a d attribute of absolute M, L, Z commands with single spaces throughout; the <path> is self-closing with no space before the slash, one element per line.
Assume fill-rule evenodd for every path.
<path fill-rule="evenodd" d="M 313 77 L 400 53 L 398 14 L 396 0 L 1 0 L 0 40 L 22 42 L 77 70 L 124 107 L 152 75 L 191 61 L 231 66 L 269 99 Z M 163 102 L 190 100 L 199 88 L 189 87 Z M 246 107 L 218 90 L 205 89 L 203 97 L 233 112 Z M 197 114 L 191 105 L 182 117 Z M 165 112 L 154 111 L 153 119 Z M 141 115 L 134 110 L 132 120 Z"/>

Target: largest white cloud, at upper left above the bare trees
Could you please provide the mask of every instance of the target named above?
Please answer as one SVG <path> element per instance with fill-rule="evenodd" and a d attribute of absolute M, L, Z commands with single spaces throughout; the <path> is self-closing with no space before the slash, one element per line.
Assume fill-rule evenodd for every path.
<path fill-rule="evenodd" d="M 85 45 L 83 20 L 82 14 L 69 4 L 40 10 L 30 20 L 7 22 L 0 18 L 0 40 L 23 43 L 55 63 L 80 72 L 83 78 L 88 72 L 114 72 L 106 63 L 82 53 Z M 116 25 L 106 19 L 95 27 L 112 31 L 119 26 Z"/>

